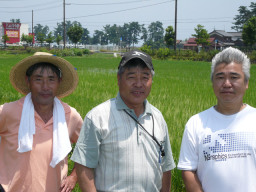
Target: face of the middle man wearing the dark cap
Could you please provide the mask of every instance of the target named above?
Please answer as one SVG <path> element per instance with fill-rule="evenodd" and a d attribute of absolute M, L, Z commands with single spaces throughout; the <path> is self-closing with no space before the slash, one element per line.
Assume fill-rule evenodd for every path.
<path fill-rule="evenodd" d="M 124 103 L 131 109 L 143 106 L 150 93 L 152 74 L 148 68 L 132 67 L 118 75 L 119 93 Z"/>

